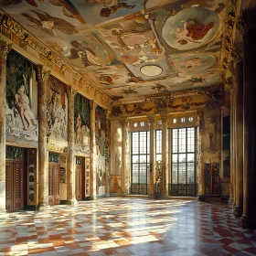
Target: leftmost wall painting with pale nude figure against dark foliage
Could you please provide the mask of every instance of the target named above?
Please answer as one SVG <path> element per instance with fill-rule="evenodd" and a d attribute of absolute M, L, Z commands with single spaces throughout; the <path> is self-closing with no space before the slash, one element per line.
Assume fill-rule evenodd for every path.
<path fill-rule="evenodd" d="M 6 60 L 6 134 L 37 142 L 34 66 L 15 51 Z"/>

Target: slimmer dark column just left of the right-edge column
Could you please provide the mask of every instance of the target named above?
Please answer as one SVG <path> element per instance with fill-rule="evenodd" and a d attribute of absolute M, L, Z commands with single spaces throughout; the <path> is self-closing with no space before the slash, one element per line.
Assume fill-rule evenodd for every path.
<path fill-rule="evenodd" d="M 242 215 L 242 205 L 243 205 L 243 62 L 240 61 L 236 63 L 235 67 L 235 98 L 236 98 L 236 123 L 235 123 L 235 140 L 236 152 L 235 152 L 235 161 L 236 161 L 236 184 L 235 193 L 236 193 L 236 206 L 234 208 L 234 215 L 241 217 Z"/>

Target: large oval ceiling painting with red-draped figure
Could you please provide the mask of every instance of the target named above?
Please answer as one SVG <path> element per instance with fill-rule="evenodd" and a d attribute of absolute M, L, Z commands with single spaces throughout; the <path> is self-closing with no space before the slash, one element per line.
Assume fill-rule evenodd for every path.
<path fill-rule="evenodd" d="M 169 17 L 162 29 L 165 42 L 172 48 L 200 48 L 214 37 L 219 29 L 219 16 L 208 8 L 193 6 Z"/>

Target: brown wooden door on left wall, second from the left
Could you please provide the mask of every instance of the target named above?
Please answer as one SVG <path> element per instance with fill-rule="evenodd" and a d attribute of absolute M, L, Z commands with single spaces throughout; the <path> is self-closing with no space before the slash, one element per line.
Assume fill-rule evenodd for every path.
<path fill-rule="evenodd" d="M 59 165 L 48 165 L 48 204 L 59 205 Z"/>

